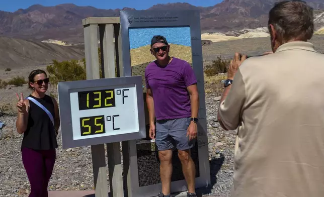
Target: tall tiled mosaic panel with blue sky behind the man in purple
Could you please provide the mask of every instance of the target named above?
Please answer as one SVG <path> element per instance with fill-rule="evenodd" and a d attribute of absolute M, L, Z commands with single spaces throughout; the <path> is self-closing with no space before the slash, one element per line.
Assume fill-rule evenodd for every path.
<path fill-rule="evenodd" d="M 181 32 L 181 34 L 179 34 Z M 142 76 L 143 92 L 146 92 L 144 72 L 146 66 L 155 60 L 150 53 L 150 41 L 153 35 L 165 36 L 170 44 L 170 56 L 183 59 L 192 65 L 191 36 L 189 27 L 137 28 L 129 29 L 130 56 L 132 76 Z M 145 97 L 144 97 L 145 100 Z M 145 102 L 145 101 L 144 101 Z M 147 111 L 147 109 L 145 109 Z M 145 112 L 146 113 L 146 112 Z M 146 121 L 147 122 L 147 121 Z M 155 142 L 148 137 L 149 126 L 146 126 L 146 139 L 137 140 L 137 164 L 139 186 L 158 184 L 159 159 Z M 199 177 L 198 146 L 192 148 L 191 155 L 196 165 L 196 177 Z M 182 173 L 178 151 L 173 152 L 172 181 L 185 179 Z"/>

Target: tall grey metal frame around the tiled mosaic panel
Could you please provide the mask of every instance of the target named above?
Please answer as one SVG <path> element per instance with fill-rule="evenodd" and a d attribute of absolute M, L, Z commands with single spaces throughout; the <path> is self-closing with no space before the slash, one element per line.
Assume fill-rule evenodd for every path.
<path fill-rule="evenodd" d="M 146 18 L 142 22 L 135 19 Z M 149 19 L 169 18 L 176 20 L 166 20 L 159 22 L 149 22 Z M 205 106 L 205 88 L 204 72 L 202 63 L 202 46 L 200 30 L 200 14 L 197 10 L 184 11 L 121 11 L 120 16 L 121 33 L 122 33 L 122 56 L 123 56 L 123 76 L 131 76 L 131 57 L 129 43 L 129 28 L 146 28 L 146 27 L 183 27 L 189 26 L 191 33 L 191 49 L 193 70 L 198 80 L 199 92 L 199 112 L 198 112 L 198 160 L 199 160 L 199 177 L 196 177 L 196 188 L 208 187 L 210 185 L 210 168 L 208 154 L 207 138 L 207 120 Z M 167 38 L 168 39 L 168 38 Z M 124 148 L 127 147 L 127 150 Z M 128 153 L 125 153 L 127 151 Z M 128 156 L 129 163 L 124 163 L 124 183 L 127 182 L 128 197 L 134 196 L 156 196 L 161 190 L 161 184 L 154 184 L 139 187 L 138 183 L 138 165 L 136 153 L 136 141 L 131 140 L 123 143 L 123 158 Z M 173 181 L 171 192 L 187 190 L 185 180 Z"/>

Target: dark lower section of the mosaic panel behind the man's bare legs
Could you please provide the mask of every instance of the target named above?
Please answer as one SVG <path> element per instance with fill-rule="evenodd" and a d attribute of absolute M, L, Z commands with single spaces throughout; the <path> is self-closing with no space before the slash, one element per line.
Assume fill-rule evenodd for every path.
<path fill-rule="evenodd" d="M 158 152 L 155 142 L 150 140 L 137 140 L 137 166 L 138 166 L 138 184 L 140 187 L 161 183 Z M 191 157 L 196 166 L 196 177 L 199 177 L 198 144 L 191 149 Z M 171 181 L 184 180 L 181 161 L 178 157 L 178 151 L 173 151 L 172 157 L 173 173 Z"/>

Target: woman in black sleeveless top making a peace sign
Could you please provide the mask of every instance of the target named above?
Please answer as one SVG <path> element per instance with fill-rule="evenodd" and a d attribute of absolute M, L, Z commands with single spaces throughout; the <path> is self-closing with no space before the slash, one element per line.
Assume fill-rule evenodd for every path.
<path fill-rule="evenodd" d="M 45 94 L 49 79 L 44 70 L 29 74 L 32 93 L 24 99 L 17 95 L 17 132 L 24 134 L 22 160 L 31 186 L 29 197 L 47 197 L 47 186 L 56 159 L 57 130 L 60 127 L 58 105 Z"/>

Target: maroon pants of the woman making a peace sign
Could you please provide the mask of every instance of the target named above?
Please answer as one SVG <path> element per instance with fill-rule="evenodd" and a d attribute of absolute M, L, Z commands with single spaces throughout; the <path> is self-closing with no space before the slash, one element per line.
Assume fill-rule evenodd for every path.
<path fill-rule="evenodd" d="M 52 176 L 56 159 L 55 149 L 22 148 L 22 159 L 31 186 L 29 197 L 47 197 L 48 181 Z"/>

